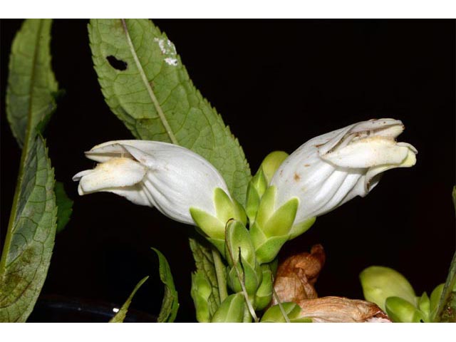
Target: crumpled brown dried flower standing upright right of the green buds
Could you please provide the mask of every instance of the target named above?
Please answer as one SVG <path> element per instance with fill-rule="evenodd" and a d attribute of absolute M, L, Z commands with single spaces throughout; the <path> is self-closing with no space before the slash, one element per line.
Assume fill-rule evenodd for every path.
<path fill-rule="evenodd" d="M 325 252 L 321 244 L 312 247 L 311 252 L 300 253 L 286 259 L 279 265 L 274 281 L 274 290 L 279 300 L 299 303 L 305 299 L 317 298 L 314 284 L 325 263 Z M 277 304 L 273 296 L 271 305 Z"/>

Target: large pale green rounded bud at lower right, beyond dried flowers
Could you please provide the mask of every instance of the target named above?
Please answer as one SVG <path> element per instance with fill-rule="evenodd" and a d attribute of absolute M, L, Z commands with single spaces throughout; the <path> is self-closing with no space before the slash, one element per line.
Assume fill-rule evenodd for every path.
<path fill-rule="evenodd" d="M 418 301 L 415 291 L 407 279 L 394 269 L 383 266 L 370 266 L 359 275 L 366 301 L 372 301 L 385 311 L 388 297 L 397 296 L 408 301 L 414 307 Z"/>

